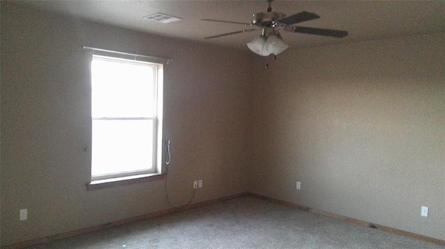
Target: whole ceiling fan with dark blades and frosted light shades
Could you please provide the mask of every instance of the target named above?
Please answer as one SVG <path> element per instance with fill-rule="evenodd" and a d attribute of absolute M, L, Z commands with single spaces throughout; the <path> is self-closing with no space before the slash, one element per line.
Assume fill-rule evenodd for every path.
<path fill-rule="evenodd" d="M 269 4 L 267 12 L 255 13 L 252 16 L 252 23 L 250 24 L 243 22 L 216 20 L 216 19 L 202 19 L 202 21 L 223 22 L 228 24 L 241 24 L 244 26 L 253 27 L 253 28 L 243 29 L 242 31 L 235 31 L 220 35 L 204 37 L 204 39 L 212 39 L 226 35 L 252 32 L 252 31 L 257 31 L 259 28 L 261 28 L 261 35 L 255 37 L 254 40 L 252 40 L 252 42 L 249 42 L 248 47 L 252 52 L 257 53 L 258 55 L 268 56 L 270 54 L 273 54 L 275 58 L 277 54 L 281 53 L 282 51 L 286 50 L 289 47 L 284 43 L 278 30 L 292 32 L 292 33 L 324 35 L 324 36 L 339 37 L 339 38 L 348 35 L 348 31 L 339 31 L 335 29 L 326 29 L 326 28 L 309 28 L 302 26 L 293 26 L 293 24 L 298 24 L 300 22 L 306 22 L 318 19 L 320 18 L 320 16 L 312 12 L 306 12 L 306 11 L 286 16 L 286 14 L 282 12 L 272 11 L 271 8 L 272 0 L 266 0 L 266 1 L 268 1 Z"/>

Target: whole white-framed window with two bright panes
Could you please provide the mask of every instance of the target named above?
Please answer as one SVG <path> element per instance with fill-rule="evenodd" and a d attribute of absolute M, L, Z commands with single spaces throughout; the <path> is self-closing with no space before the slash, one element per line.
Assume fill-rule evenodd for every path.
<path fill-rule="evenodd" d="M 92 181 L 161 172 L 162 70 L 92 55 Z"/>

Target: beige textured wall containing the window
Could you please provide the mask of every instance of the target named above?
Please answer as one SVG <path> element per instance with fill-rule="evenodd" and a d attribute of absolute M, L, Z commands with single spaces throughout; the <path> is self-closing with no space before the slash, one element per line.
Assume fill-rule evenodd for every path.
<path fill-rule="evenodd" d="M 248 191 L 247 51 L 193 44 L 1 2 L 1 245 L 168 209 L 164 181 L 87 191 L 90 53 L 164 55 L 174 205 Z M 19 209 L 28 220 L 19 221 Z"/>

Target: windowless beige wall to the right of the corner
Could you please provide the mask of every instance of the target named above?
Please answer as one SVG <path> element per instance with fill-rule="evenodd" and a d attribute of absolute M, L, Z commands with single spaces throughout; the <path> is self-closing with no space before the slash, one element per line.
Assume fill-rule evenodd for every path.
<path fill-rule="evenodd" d="M 445 239 L 444 34 L 286 51 L 258 77 L 254 193 Z"/>

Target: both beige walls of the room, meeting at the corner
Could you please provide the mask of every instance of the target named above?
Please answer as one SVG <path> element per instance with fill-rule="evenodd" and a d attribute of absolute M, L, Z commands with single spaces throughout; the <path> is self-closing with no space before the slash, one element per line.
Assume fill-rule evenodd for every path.
<path fill-rule="evenodd" d="M 265 70 L 248 51 L 2 1 L 1 245 L 169 208 L 163 181 L 86 191 L 82 45 L 175 58 L 163 127 L 175 204 L 203 179 L 195 202 L 252 191 L 445 239 L 444 44 L 425 35 L 289 50 Z"/>

